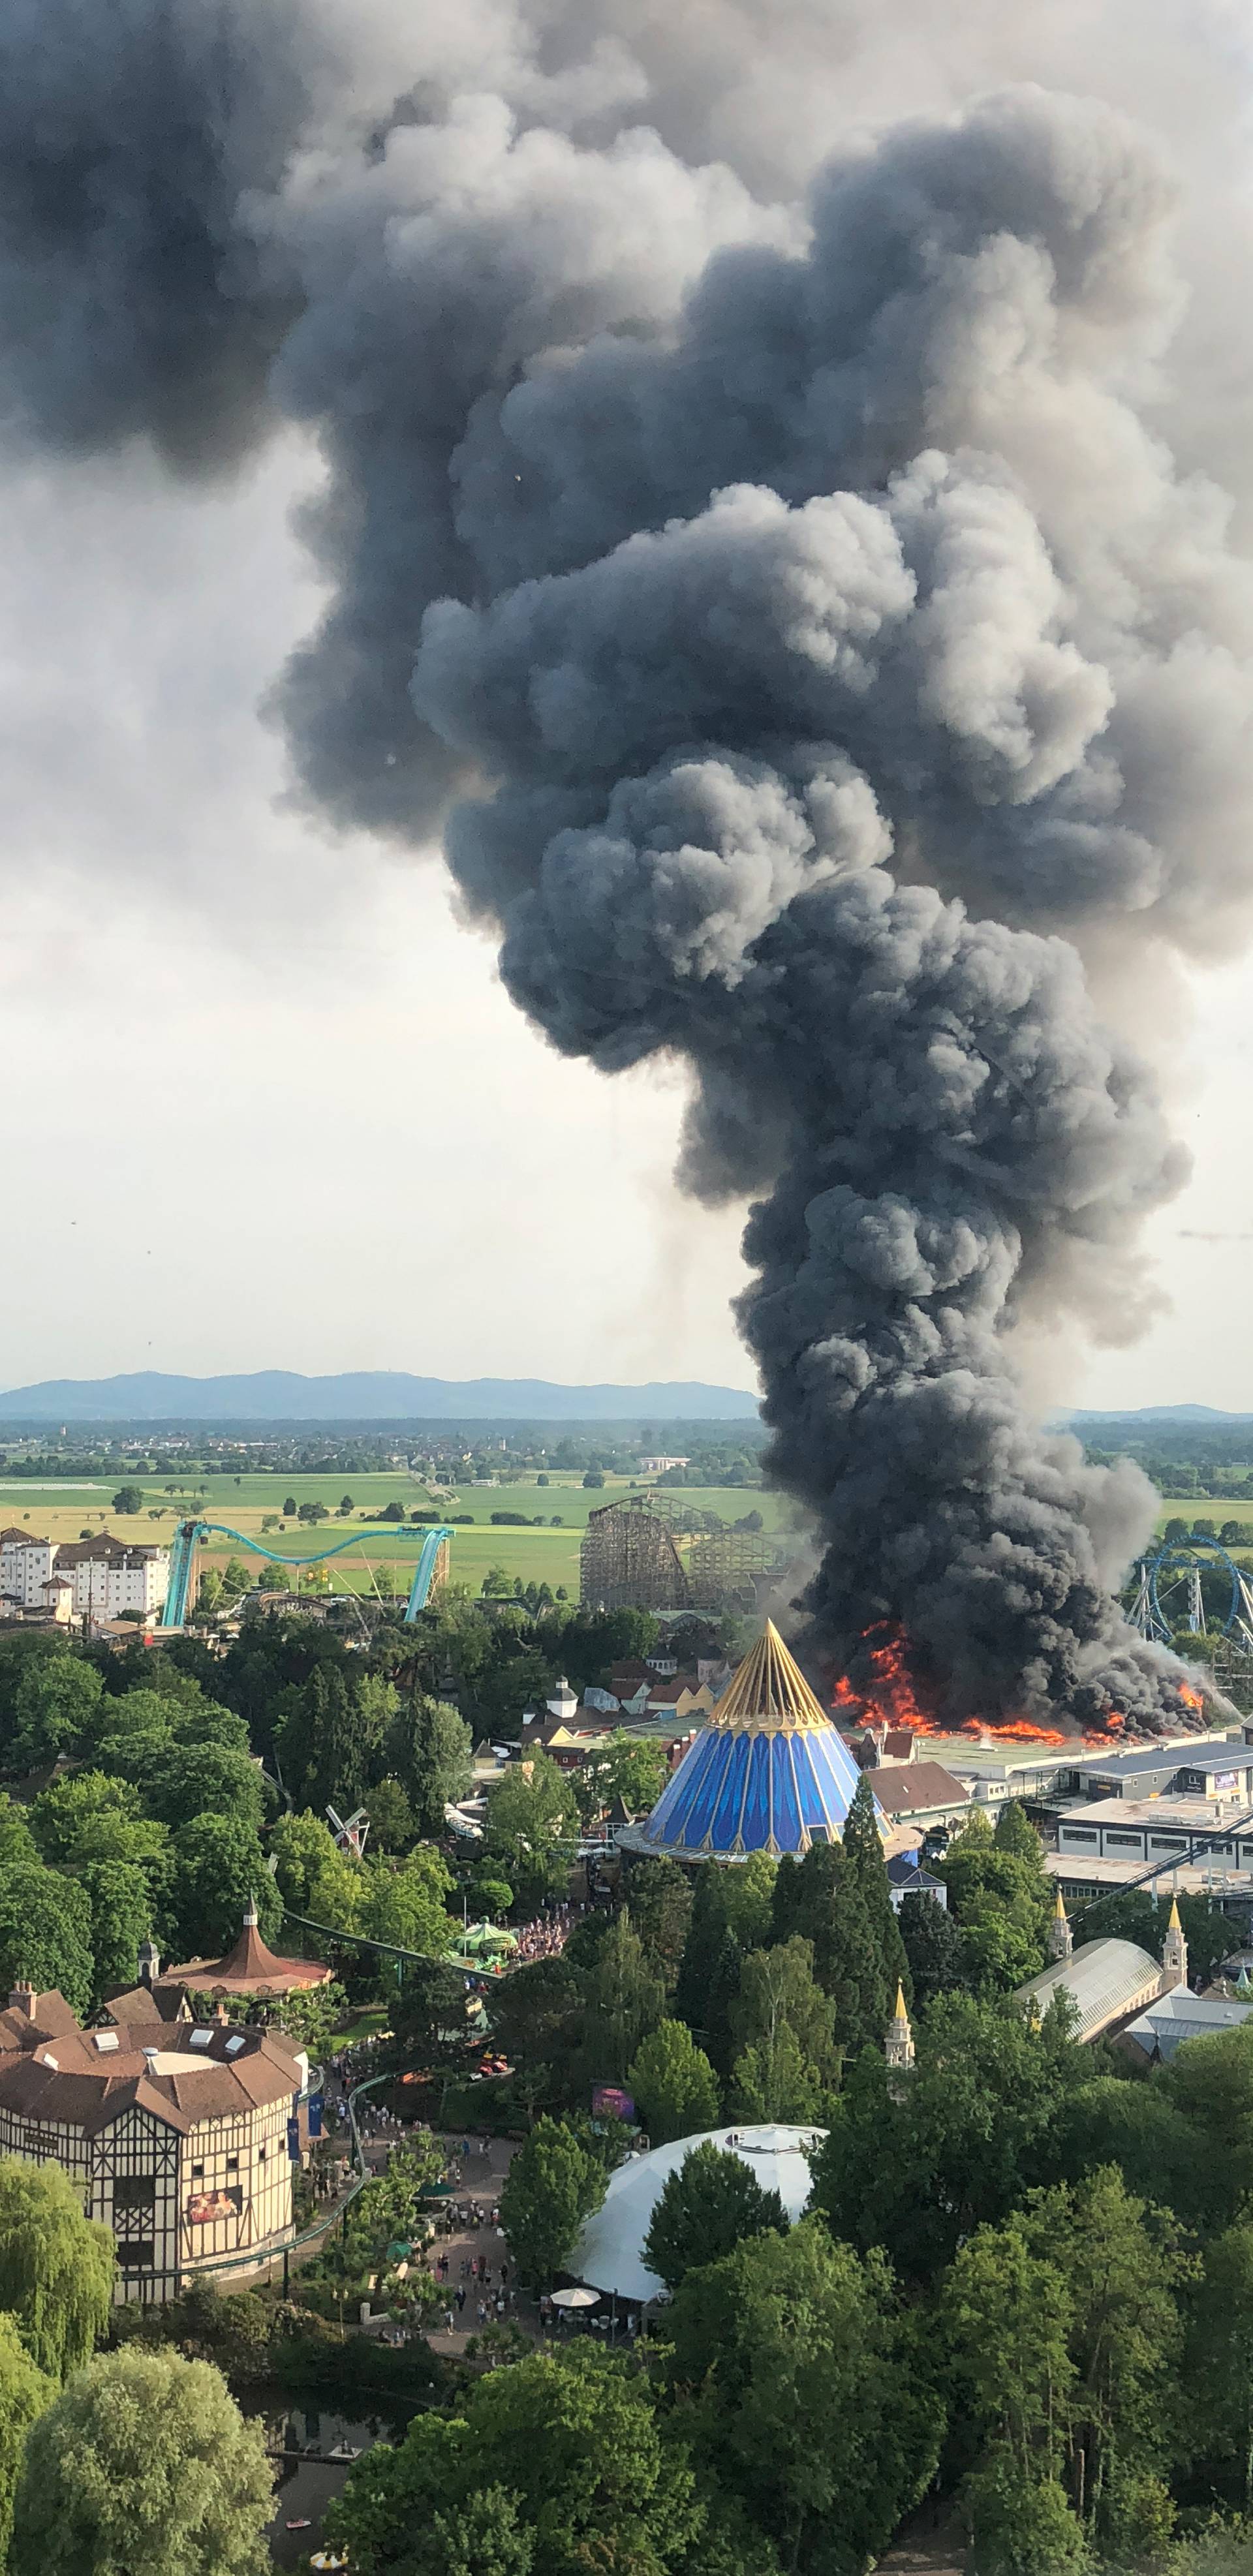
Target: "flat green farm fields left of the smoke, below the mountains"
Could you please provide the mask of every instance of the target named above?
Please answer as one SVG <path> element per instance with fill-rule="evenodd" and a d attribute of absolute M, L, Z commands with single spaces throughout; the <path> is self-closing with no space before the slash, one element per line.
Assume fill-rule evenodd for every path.
<path fill-rule="evenodd" d="M 554 1471 L 549 1471 L 547 1486 L 526 1476 L 500 1486 L 467 1484 L 451 1494 L 425 1486 L 405 1471 L 382 1476 L 206 1473 L 188 1476 L 183 1486 L 175 1484 L 173 1494 L 168 1492 L 170 1479 L 134 1476 L 126 1481 L 139 1484 L 144 1494 L 144 1510 L 134 1517 L 121 1517 L 111 1510 L 116 1492 L 111 1481 L 67 1486 L 57 1481 L 0 1479 L 0 1522 L 13 1522 L 54 1540 L 108 1528 L 131 1543 L 168 1546 L 175 1525 L 193 1512 L 199 1520 L 217 1520 L 240 1530 L 242 1538 L 263 1540 L 276 1556 L 304 1556 L 312 1548 L 335 1546 L 340 1538 L 358 1538 L 358 1548 L 333 1558 L 327 1571 L 335 1589 L 369 1592 L 369 1566 L 384 1564 L 394 1566 L 397 1584 L 407 1589 L 410 1569 L 425 1535 L 423 1525 L 410 1525 L 402 1538 L 387 1538 L 376 1522 L 364 1517 L 366 1512 L 382 1512 L 389 1502 L 402 1502 L 405 1512 L 441 1510 L 451 1520 L 461 1512 L 474 1515 L 474 1525 L 459 1528 L 451 1546 L 451 1579 L 469 1592 L 480 1592 L 490 1566 L 503 1566 L 510 1579 L 521 1577 L 523 1584 L 547 1582 L 554 1592 L 557 1584 L 565 1584 L 570 1600 L 578 1600 L 578 1548 L 588 1512 L 596 1512 L 603 1502 L 614 1502 L 616 1494 L 639 1489 L 626 1476 L 606 1476 L 603 1486 L 583 1486 L 578 1473 L 559 1476 Z M 340 1517 L 338 1504 L 345 1492 L 353 1497 L 353 1510 Z M 284 1520 L 281 1504 L 286 1499 L 296 1504 L 325 1502 L 330 1520 L 315 1528 L 296 1525 L 294 1517 Z M 745 1512 L 761 1512 L 766 1530 L 784 1533 L 794 1525 L 789 1497 L 763 1494 L 755 1486 L 694 1486 L 686 1499 L 704 1512 L 717 1512 L 727 1522 L 740 1520 Z M 549 1525 L 523 1530 L 498 1528 L 492 1525 L 492 1512 L 526 1512 L 529 1520 L 544 1515 Z M 260 1522 L 271 1515 L 278 1515 L 281 1528 L 263 1533 Z M 559 1517 L 557 1530 L 552 1528 L 554 1517 Z M 211 1540 L 204 1553 L 209 1564 L 222 1566 L 235 1551 L 229 1540 Z"/>

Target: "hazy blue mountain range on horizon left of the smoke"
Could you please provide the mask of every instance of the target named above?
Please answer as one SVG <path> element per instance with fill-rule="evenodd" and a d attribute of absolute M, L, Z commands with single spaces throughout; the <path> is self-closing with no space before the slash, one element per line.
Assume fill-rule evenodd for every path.
<path fill-rule="evenodd" d="M 552 1386 L 549 1378 L 410 1378 L 353 1368 L 302 1378 L 258 1368 L 245 1378 L 41 1378 L 0 1394 L 5 1422 L 732 1422 L 755 1419 L 743 1386 Z"/>

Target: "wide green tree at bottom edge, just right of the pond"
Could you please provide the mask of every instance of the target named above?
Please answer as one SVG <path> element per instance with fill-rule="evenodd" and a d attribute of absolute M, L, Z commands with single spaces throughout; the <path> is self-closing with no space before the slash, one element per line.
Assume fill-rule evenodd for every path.
<path fill-rule="evenodd" d="M 374 2445 L 325 2527 L 348 2545 L 356 2576 L 413 2566 L 461 2576 L 449 2555 L 415 2561 L 415 2535 L 436 2514 L 467 2517 L 492 2491 L 534 2537 L 536 2576 L 678 2576 L 688 2566 L 699 2506 L 686 2450 L 665 2437 L 647 2378 L 590 2344 L 487 2372 L 464 2391 L 461 2414 L 420 2414 L 397 2450 Z M 451 2530 L 461 2545 L 467 2522 Z M 500 2548 L 505 2537 L 508 2517 L 495 2512 L 487 2540 Z M 526 2561 L 469 2561 L 469 2576 L 498 2566 L 521 2576 Z"/>

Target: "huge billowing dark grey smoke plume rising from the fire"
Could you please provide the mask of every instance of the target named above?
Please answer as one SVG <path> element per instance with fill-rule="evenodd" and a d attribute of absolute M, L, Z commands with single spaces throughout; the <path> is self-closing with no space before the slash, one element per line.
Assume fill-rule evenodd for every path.
<path fill-rule="evenodd" d="M 1248 574 L 1147 420 L 1155 155 L 1018 88 L 781 206 L 657 139 L 614 28 L 480 28 L 469 90 L 379 23 L 374 93 L 330 21 L 263 28 L 0 10 L 13 428 L 199 471 L 315 430 L 296 770 L 443 829 L 559 1048 L 691 1061 L 825 1638 L 900 1620 L 951 1716 L 1178 1723 L 1111 1600 L 1152 1497 L 1031 1427 L 1005 1342 L 1134 1301 L 1181 1177 L 1080 948 L 1248 871 Z"/>

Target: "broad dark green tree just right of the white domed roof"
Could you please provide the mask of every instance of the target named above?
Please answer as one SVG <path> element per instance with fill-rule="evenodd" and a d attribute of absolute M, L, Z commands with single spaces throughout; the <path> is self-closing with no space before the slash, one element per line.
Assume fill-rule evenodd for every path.
<path fill-rule="evenodd" d="M 835 2236 L 879 2244 L 897 2272 L 928 2282 L 964 2236 L 1049 2179 L 1062 2110 L 1091 2069 L 1065 2004 L 1031 2025 L 1011 2002 L 941 1994 L 915 2048 L 905 2087 L 889 2084 L 882 2050 L 846 2066 L 815 2205 Z"/>

